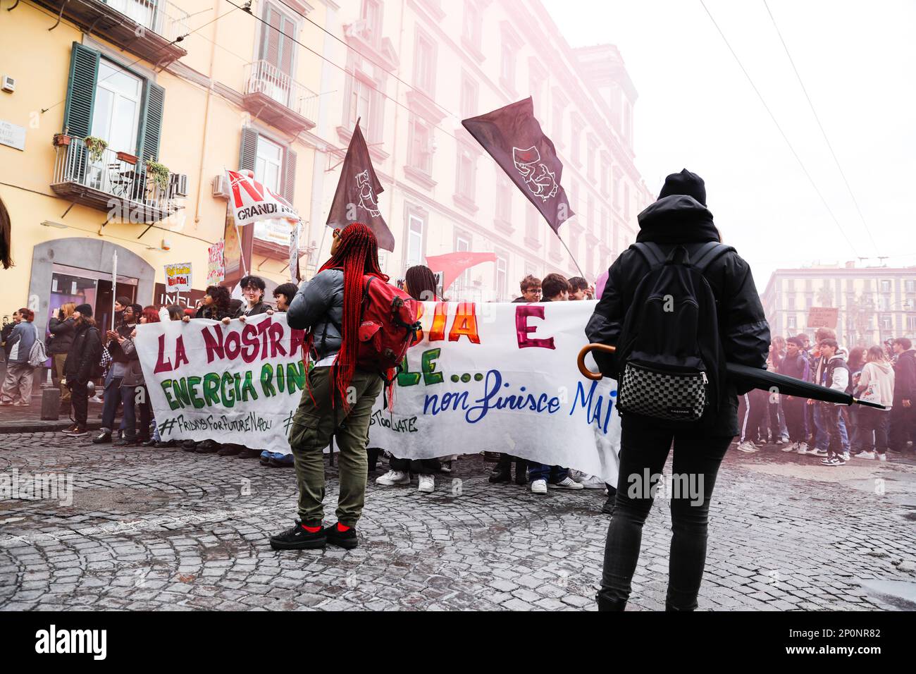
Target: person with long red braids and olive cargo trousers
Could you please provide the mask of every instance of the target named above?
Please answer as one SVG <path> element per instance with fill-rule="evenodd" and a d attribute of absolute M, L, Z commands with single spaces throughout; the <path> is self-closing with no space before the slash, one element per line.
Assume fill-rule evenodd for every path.
<path fill-rule="evenodd" d="M 333 231 L 331 259 L 289 304 L 289 326 L 308 331 L 315 365 L 289 428 L 299 485 L 299 519 L 272 536 L 275 550 L 358 545 L 356 522 L 363 513 L 367 475 L 365 446 L 372 407 L 382 391 L 376 372 L 356 368 L 366 276 L 388 277 L 378 266 L 376 235 L 362 223 Z M 337 522 L 322 528 L 324 447 L 334 436 L 340 449 Z"/>

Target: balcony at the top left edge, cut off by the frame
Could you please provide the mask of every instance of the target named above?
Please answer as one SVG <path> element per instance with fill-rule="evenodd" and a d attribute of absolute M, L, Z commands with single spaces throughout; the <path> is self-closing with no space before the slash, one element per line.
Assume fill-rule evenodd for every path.
<path fill-rule="evenodd" d="M 187 56 L 175 40 L 190 32 L 188 13 L 167 0 L 37 0 L 58 17 L 159 67 Z"/>

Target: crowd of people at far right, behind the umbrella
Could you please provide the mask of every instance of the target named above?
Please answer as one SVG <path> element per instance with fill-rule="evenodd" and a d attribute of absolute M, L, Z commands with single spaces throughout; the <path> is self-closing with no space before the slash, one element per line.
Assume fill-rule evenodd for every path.
<path fill-rule="evenodd" d="M 886 461 L 889 450 L 903 453 L 916 439 L 916 350 L 908 337 L 848 350 L 828 327 L 818 328 L 813 342 L 804 334 L 773 337 L 767 368 L 885 409 L 750 391 L 739 401 L 739 451 L 775 446 L 843 466 L 851 459 Z"/>

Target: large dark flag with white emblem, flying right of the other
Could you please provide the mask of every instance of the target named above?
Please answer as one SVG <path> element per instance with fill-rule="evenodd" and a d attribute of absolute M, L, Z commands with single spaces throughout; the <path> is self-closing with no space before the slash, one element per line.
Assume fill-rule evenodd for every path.
<path fill-rule="evenodd" d="M 531 97 L 464 119 L 462 124 L 538 207 L 553 231 L 559 232 L 573 216 L 573 209 L 560 185 L 562 162 L 534 118 Z"/>

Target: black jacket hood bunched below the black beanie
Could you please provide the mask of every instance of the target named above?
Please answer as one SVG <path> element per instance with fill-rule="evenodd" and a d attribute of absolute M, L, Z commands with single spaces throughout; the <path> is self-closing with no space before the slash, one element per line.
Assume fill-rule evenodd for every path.
<path fill-rule="evenodd" d="M 713 214 L 686 194 L 663 196 L 637 217 L 637 241 L 654 243 L 703 243 L 718 241 Z"/>

